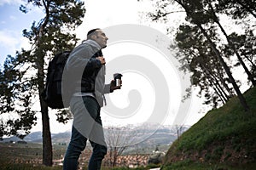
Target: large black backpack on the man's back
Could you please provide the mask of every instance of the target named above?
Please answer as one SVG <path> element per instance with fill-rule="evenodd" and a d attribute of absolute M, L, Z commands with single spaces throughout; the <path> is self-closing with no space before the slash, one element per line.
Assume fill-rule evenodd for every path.
<path fill-rule="evenodd" d="M 43 98 L 52 109 L 63 109 L 69 103 L 62 99 L 62 75 L 69 54 L 70 51 L 55 54 L 55 57 L 49 61 Z M 68 100 L 66 97 L 65 99 Z"/>

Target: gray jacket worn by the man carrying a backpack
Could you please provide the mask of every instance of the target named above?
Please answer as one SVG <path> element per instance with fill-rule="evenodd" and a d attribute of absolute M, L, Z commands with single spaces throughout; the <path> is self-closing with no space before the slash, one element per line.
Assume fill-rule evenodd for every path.
<path fill-rule="evenodd" d="M 74 95 L 94 96 L 103 105 L 104 94 L 110 93 L 110 84 L 105 84 L 105 65 L 96 59 L 101 52 L 100 45 L 93 40 L 85 40 L 74 48 L 67 59 L 67 71 L 75 87 Z"/>

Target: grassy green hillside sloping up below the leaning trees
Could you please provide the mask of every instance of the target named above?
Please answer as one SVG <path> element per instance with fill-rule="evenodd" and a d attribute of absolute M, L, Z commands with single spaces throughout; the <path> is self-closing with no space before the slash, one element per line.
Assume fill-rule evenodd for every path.
<path fill-rule="evenodd" d="M 164 169 L 190 170 L 195 164 L 224 166 L 214 169 L 256 169 L 256 88 L 244 96 L 249 113 L 242 110 L 236 97 L 209 111 L 172 144 Z"/>

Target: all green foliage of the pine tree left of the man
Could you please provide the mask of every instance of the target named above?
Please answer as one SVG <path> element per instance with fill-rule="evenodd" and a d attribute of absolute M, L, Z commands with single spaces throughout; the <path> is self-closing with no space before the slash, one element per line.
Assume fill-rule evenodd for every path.
<path fill-rule="evenodd" d="M 30 30 L 23 30 L 31 49 L 22 48 L 15 56 L 8 56 L 0 71 L 0 115 L 9 114 L 10 117 L 1 120 L 0 138 L 3 135 L 23 138 L 30 132 L 37 121 L 38 111 L 32 109 L 35 101 L 40 101 L 42 114 L 48 114 L 41 97 L 46 63 L 56 52 L 71 50 L 75 46 L 78 39 L 72 31 L 82 23 L 85 13 L 84 3 L 79 0 L 27 0 L 20 6 L 20 11 L 28 13 L 31 7 L 44 12 L 41 20 L 32 22 Z M 66 114 L 59 113 L 58 120 L 67 122 L 63 113 Z"/>

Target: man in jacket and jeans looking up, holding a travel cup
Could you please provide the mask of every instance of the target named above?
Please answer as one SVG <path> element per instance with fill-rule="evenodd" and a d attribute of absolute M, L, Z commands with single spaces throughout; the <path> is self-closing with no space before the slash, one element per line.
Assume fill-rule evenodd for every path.
<path fill-rule="evenodd" d="M 66 69 L 75 89 L 70 101 L 73 112 L 72 137 L 67 147 L 63 170 L 78 168 L 78 159 L 87 139 L 93 148 L 89 170 L 101 169 L 102 159 L 107 154 L 100 111 L 104 94 L 120 88 L 113 81 L 105 85 L 106 61 L 101 49 L 107 47 L 107 41 L 108 37 L 101 29 L 93 29 L 67 59 Z"/>

